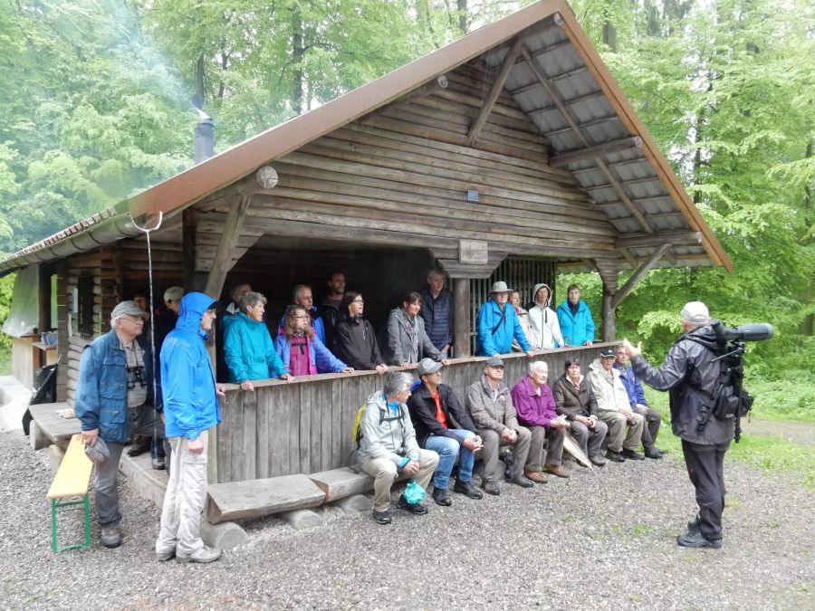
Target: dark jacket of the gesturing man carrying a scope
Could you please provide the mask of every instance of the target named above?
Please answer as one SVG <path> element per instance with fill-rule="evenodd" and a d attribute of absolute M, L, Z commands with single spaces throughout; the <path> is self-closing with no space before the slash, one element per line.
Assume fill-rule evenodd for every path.
<path fill-rule="evenodd" d="M 704 345 L 688 337 L 693 336 Z M 649 387 L 669 391 L 671 427 L 677 437 L 694 444 L 724 444 L 733 438 L 733 420 L 716 420 L 711 416 L 705 428 L 696 430 L 702 416 L 702 400 L 711 396 L 719 377 L 719 363 L 714 329 L 707 325 L 689 331 L 668 350 L 660 368 L 651 367 L 645 357 L 631 359 L 631 367 Z"/>

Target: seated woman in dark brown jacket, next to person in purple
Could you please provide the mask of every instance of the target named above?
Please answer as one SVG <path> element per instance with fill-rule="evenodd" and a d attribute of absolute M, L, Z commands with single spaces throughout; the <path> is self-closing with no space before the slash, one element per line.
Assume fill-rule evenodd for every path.
<path fill-rule="evenodd" d="M 580 450 L 591 463 L 599 467 L 606 464 L 602 445 L 609 426 L 597 415 L 597 404 L 591 396 L 589 380 L 580 374 L 580 361 L 577 358 L 566 359 L 566 371 L 554 383 L 552 393 L 555 410 L 566 416 L 570 433 L 580 445 Z"/>

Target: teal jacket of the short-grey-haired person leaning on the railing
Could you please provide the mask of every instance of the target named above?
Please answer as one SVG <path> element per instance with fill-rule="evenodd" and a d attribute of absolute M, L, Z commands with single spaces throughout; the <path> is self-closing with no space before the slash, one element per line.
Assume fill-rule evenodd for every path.
<path fill-rule="evenodd" d="M 235 384 L 289 373 L 277 356 L 266 323 L 250 319 L 245 312 L 239 313 L 226 328 L 224 358 L 227 380 Z"/>

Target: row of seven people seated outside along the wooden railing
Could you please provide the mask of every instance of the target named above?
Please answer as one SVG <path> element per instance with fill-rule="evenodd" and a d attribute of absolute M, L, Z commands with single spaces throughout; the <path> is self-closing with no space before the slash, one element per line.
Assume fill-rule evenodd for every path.
<path fill-rule="evenodd" d="M 423 489 L 432 479 L 433 500 L 449 506 L 456 463 L 452 492 L 471 499 L 481 499 L 482 490 L 500 494 L 502 475 L 522 488 L 546 483 L 545 473 L 570 477 L 562 465 L 567 433 L 597 466 L 607 459 L 622 463 L 662 457 L 654 444 L 660 415 L 647 407 L 623 347 L 603 348 L 587 376 L 578 359 L 568 359 L 551 387 L 549 366 L 542 360 L 532 361 L 527 375 L 510 388 L 503 381 L 503 360 L 487 358 L 482 377 L 467 387 L 464 403 L 442 382 L 443 368 L 443 363 L 424 358 L 416 381 L 407 372 L 389 372 L 382 390 L 369 396 L 364 407 L 358 463 L 374 478 L 373 516 L 379 524 L 392 520 L 390 489 L 400 471 Z M 644 453 L 638 452 L 640 443 Z M 505 459 L 512 468 L 500 462 L 504 446 L 512 448 L 512 459 Z M 483 461 L 482 490 L 473 483 L 476 457 Z M 397 506 L 427 513 L 424 504 L 409 502 L 405 495 Z"/>

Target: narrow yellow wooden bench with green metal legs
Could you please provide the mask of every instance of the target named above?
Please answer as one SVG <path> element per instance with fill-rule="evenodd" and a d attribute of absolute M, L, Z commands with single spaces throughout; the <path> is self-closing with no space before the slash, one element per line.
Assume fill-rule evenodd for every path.
<path fill-rule="evenodd" d="M 91 501 L 88 488 L 91 484 L 92 469 L 93 463 L 85 455 L 82 445 L 82 435 L 73 435 L 62 464 L 53 477 L 51 489 L 46 495 L 51 501 L 51 547 L 54 553 L 65 549 L 91 547 Z M 77 501 L 76 497 L 82 497 L 82 500 Z M 57 533 L 57 514 L 81 509 L 85 511 L 84 543 L 73 543 L 61 548 Z"/>

